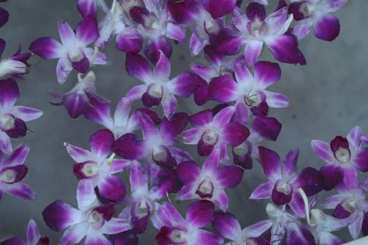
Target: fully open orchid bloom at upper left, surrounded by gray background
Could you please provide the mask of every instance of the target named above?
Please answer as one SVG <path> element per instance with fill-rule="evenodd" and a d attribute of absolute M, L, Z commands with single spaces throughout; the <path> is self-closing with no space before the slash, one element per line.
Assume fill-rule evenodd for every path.
<path fill-rule="evenodd" d="M 67 22 L 57 22 L 62 43 L 50 37 L 41 37 L 32 42 L 29 50 L 44 59 L 59 59 L 56 76 L 60 84 L 64 83 L 72 69 L 86 73 L 91 64 L 106 64 L 102 52 L 87 48 L 98 37 L 97 21 L 87 16 L 76 26 L 76 32 Z"/>

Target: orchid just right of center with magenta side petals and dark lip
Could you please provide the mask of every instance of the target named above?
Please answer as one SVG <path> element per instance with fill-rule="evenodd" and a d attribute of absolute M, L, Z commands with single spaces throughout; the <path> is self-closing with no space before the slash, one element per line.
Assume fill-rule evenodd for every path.
<path fill-rule="evenodd" d="M 250 134 L 244 125 L 231 122 L 235 111 L 227 106 L 216 115 L 211 110 L 192 115 L 189 121 L 194 127 L 183 132 L 184 144 L 197 144 L 201 156 L 219 152 L 221 162 L 227 162 L 227 146 L 239 146 Z"/>

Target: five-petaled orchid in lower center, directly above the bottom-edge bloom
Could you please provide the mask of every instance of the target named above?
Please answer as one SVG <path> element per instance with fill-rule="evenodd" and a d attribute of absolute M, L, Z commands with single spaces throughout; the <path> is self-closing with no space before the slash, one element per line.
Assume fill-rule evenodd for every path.
<path fill-rule="evenodd" d="M 210 200 L 226 211 L 229 200 L 224 189 L 238 186 L 243 169 L 230 165 L 219 167 L 219 160 L 216 151 L 205 160 L 202 169 L 193 161 L 180 163 L 177 175 L 184 186 L 177 194 L 177 200 Z"/>

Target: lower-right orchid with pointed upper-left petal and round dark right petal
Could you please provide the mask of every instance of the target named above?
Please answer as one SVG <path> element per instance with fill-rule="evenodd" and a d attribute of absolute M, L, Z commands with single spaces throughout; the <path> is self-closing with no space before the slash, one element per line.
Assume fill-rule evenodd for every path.
<path fill-rule="evenodd" d="M 304 216 L 304 202 L 297 188 L 308 190 L 308 196 L 315 195 L 323 189 L 323 179 L 317 169 L 308 167 L 301 174 L 297 174 L 297 160 L 299 150 L 292 149 L 284 162 L 274 151 L 259 146 L 259 158 L 268 182 L 262 183 L 250 195 L 250 199 L 268 199 L 280 206 L 287 204 L 294 214 Z"/>

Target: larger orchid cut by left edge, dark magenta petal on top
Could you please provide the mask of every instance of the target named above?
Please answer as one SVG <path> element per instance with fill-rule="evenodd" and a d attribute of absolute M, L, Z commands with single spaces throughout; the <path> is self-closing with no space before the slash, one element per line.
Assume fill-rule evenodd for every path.
<path fill-rule="evenodd" d="M 42 111 L 25 106 L 14 106 L 20 96 L 13 78 L 0 80 L 0 151 L 10 154 L 13 151 L 11 138 L 25 137 L 26 122 L 42 116 Z"/>

